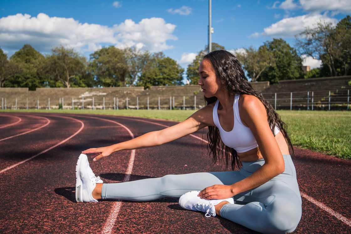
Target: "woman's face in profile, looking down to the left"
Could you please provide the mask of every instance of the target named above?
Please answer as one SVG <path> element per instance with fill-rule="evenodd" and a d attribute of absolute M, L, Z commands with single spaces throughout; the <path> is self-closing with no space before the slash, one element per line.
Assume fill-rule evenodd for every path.
<path fill-rule="evenodd" d="M 216 72 L 214 71 L 210 60 L 204 59 L 200 63 L 199 67 L 200 80 L 198 85 L 201 86 L 202 92 L 204 92 L 206 98 L 217 96 L 216 94 L 220 89 L 219 79 L 216 78 Z"/>

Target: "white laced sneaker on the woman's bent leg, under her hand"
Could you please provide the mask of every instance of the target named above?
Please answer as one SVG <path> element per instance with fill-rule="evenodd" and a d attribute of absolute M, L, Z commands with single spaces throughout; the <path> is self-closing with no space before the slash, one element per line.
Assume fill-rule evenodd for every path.
<path fill-rule="evenodd" d="M 206 200 L 198 197 L 198 194 L 199 191 L 187 192 L 179 198 L 179 205 L 184 209 L 195 211 L 199 210 L 205 212 L 205 216 L 210 217 L 211 215 L 216 216 L 216 210 L 214 206 L 216 206 L 220 202 L 227 201 L 229 203 L 234 204 L 233 198 Z"/>

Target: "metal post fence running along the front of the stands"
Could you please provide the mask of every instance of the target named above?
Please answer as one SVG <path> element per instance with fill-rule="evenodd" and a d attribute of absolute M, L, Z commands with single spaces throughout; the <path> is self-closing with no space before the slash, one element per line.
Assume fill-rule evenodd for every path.
<path fill-rule="evenodd" d="M 350 90 L 262 93 L 274 109 L 349 110 Z M 198 100 L 197 100 L 198 96 Z M 1 98 L 1 109 L 200 109 L 203 98 L 192 96 Z"/>

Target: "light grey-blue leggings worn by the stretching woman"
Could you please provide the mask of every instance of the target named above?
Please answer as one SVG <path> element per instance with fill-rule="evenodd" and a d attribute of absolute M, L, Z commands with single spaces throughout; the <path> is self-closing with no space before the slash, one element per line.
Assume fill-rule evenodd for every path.
<path fill-rule="evenodd" d="M 302 214 L 296 171 L 290 155 L 283 155 L 285 171 L 263 185 L 235 195 L 235 204 L 226 204 L 220 216 L 261 233 L 290 233 Z M 186 192 L 212 185 L 232 185 L 260 168 L 264 159 L 243 162 L 243 168 L 230 172 L 201 172 L 166 175 L 161 178 L 102 186 L 102 199 L 150 201 L 164 197 L 179 198 Z"/>

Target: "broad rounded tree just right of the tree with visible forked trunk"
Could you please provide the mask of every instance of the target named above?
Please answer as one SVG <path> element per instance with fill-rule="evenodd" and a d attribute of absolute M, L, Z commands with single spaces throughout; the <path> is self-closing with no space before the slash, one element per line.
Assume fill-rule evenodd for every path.
<path fill-rule="evenodd" d="M 89 67 L 98 85 L 126 86 L 128 64 L 124 50 L 109 46 L 95 51 L 90 55 Z"/>

